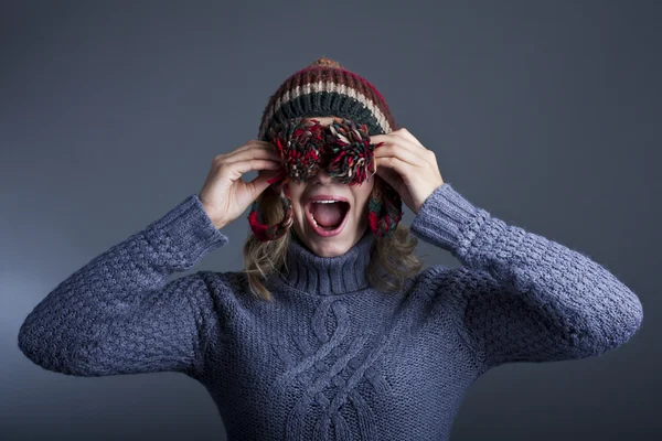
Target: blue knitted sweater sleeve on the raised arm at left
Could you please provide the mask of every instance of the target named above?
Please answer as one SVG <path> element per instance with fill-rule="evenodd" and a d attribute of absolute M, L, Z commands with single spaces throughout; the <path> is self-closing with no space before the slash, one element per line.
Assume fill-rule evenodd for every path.
<path fill-rule="evenodd" d="M 214 320 L 203 271 L 167 282 L 227 241 L 192 194 L 51 291 L 18 344 L 45 369 L 96 377 L 200 373 Z"/>

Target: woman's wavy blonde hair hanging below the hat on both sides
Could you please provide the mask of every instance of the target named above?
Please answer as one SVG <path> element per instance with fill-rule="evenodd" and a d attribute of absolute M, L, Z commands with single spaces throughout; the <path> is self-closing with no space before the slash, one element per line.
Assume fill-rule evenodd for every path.
<path fill-rule="evenodd" d="M 275 192 L 264 192 L 258 196 L 263 220 L 274 225 L 284 216 L 281 201 Z M 244 244 L 244 269 L 250 292 L 264 300 L 271 301 L 271 292 L 264 286 L 263 280 L 278 273 L 286 265 L 287 250 L 290 246 L 291 232 L 275 240 L 260 241 L 250 234 Z M 377 237 L 367 267 L 367 280 L 378 290 L 387 292 L 399 291 L 407 279 L 418 275 L 423 261 L 415 255 L 418 239 L 409 228 L 402 223 L 386 238 Z M 381 268 L 380 268 L 381 266 Z M 384 278 L 380 269 L 386 271 L 389 278 Z"/>

